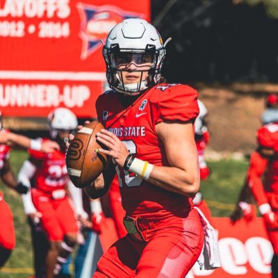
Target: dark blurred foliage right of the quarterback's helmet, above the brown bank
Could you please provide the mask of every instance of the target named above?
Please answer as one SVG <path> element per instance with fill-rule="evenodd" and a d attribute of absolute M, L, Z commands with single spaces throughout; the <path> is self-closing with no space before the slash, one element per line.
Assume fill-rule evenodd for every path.
<path fill-rule="evenodd" d="M 276 16 L 277 14 L 277 16 Z M 278 81 L 278 0 L 152 0 L 169 82 Z"/>

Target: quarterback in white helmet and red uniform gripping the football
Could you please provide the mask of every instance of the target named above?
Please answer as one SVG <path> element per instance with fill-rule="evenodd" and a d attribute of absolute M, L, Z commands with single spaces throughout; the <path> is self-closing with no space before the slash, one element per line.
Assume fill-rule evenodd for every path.
<path fill-rule="evenodd" d="M 192 198 L 199 190 L 193 124 L 197 92 L 159 83 L 165 45 L 154 26 L 125 19 L 104 45 L 113 90 L 97 99 L 106 129 L 97 140 L 114 164 L 104 170 L 104 195 L 117 172 L 127 235 L 101 257 L 93 277 L 184 277 L 202 251 L 203 231 Z"/>

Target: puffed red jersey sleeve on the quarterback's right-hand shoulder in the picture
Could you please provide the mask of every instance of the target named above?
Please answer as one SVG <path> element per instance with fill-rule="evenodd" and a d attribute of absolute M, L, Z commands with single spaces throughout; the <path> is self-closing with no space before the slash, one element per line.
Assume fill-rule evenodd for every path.
<path fill-rule="evenodd" d="M 198 93 L 188 85 L 157 85 L 150 99 L 154 124 L 163 121 L 188 122 L 199 115 Z"/>

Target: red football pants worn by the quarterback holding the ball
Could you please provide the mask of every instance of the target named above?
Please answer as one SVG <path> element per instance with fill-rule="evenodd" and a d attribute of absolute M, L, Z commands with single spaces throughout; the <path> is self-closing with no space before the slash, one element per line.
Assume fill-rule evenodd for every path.
<path fill-rule="evenodd" d="M 195 209 L 187 218 L 156 222 L 143 234 L 149 238 L 147 243 L 127 235 L 112 245 L 93 277 L 184 278 L 202 251 L 204 236 Z"/>

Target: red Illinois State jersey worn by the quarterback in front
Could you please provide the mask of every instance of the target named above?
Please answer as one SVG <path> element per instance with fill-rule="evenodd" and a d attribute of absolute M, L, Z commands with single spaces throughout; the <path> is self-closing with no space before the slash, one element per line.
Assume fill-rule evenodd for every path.
<path fill-rule="evenodd" d="M 99 121 L 122 140 L 129 152 L 153 165 L 169 166 L 155 125 L 163 121 L 195 120 L 199 113 L 197 92 L 188 85 L 159 84 L 150 88 L 127 108 L 123 94 L 111 90 L 97 99 Z M 178 147 L 178 146 L 177 146 Z M 181 215 L 192 205 L 189 198 L 172 193 L 116 166 L 122 205 L 135 218 Z"/>

